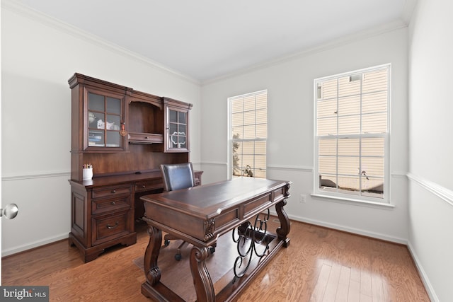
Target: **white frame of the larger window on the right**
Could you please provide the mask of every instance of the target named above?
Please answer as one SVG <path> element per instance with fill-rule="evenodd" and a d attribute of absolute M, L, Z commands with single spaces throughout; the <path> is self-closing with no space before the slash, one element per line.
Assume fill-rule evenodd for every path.
<path fill-rule="evenodd" d="M 377 71 L 380 69 L 386 69 L 387 71 L 387 108 L 386 108 L 386 132 L 382 133 L 358 133 L 358 134 L 328 134 L 319 136 L 318 135 L 318 84 L 333 79 L 340 79 L 345 76 L 355 76 L 357 74 L 365 74 L 370 71 Z M 390 204 L 390 137 L 391 137 L 391 64 L 382 64 L 378 66 L 372 66 L 364 69 L 357 69 L 355 71 L 348 71 L 341 74 L 335 74 L 332 76 L 324 76 L 321 78 L 314 79 L 314 196 L 328 197 L 332 199 L 345 200 L 350 202 L 362 202 L 370 204 Z M 360 108 L 362 107 L 362 91 L 360 91 Z M 360 112 L 362 116 L 362 112 Z M 338 120 L 338 119 L 337 119 Z M 320 179 L 319 179 L 319 141 L 320 139 L 367 139 L 367 138 L 383 138 L 384 139 L 384 191 L 381 197 L 369 197 L 362 195 L 359 190 L 359 194 L 348 194 L 346 192 L 329 192 L 328 190 L 321 190 Z M 338 151 L 336 151 L 336 158 L 339 157 Z M 365 156 L 366 157 L 366 156 Z M 362 153 L 359 152 L 359 158 L 364 158 Z M 360 159 L 361 161 L 361 159 Z M 338 165 L 338 163 L 337 163 Z M 338 170 L 336 175 L 338 175 Z M 360 174 L 360 173 L 359 173 Z M 366 176 L 366 175 L 365 175 Z M 360 175 L 359 182 L 361 183 L 362 175 Z"/>

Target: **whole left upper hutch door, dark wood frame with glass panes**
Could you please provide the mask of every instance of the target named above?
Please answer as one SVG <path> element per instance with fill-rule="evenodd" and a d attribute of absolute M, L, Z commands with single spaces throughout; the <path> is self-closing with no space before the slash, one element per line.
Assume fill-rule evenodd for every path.
<path fill-rule="evenodd" d="M 84 89 L 84 151 L 125 151 L 125 96 Z"/>

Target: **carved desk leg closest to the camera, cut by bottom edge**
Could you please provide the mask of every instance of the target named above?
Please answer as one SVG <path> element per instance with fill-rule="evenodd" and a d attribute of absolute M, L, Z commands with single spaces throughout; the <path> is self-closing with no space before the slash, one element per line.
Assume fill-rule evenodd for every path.
<path fill-rule="evenodd" d="M 193 246 L 190 251 L 190 272 L 197 293 L 197 302 L 214 302 L 214 285 L 207 271 L 205 260 L 210 256 L 210 248 Z"/>

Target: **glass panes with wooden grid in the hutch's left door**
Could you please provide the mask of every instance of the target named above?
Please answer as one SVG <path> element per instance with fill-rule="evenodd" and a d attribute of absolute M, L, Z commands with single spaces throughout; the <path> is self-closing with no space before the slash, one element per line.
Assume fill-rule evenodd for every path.
<path fill-rule="evenodd" d="M 88 91 L 88 148 L 124 149 L 123 108 L 122 98 Z"/>

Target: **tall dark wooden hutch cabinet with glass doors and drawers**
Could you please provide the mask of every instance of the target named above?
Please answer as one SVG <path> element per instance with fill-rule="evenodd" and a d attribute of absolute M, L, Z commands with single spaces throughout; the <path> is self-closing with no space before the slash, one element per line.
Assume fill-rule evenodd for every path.
<path fill-rule="evenodd" d="M 159 165 L 189 161 L 191 104 L 74 74 L 71 88 L 71 232 L 88 262 L 137 241 L 139 197 L 162 192 Z M 82 167 L 93 167 L 84 180 Z M 195 172 L 197 185 L 202 171 Z"/>

